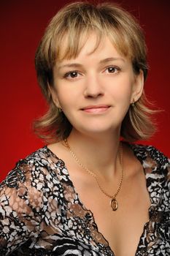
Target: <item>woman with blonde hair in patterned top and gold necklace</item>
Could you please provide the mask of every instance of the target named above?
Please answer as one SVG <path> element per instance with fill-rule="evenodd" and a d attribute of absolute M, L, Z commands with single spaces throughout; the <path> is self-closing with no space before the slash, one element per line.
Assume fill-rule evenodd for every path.
<path fill-rule="evenodd" d="M 36 72 L 50 143 L 1 184 L 1 255 L 169 255 L 169 160 L 130 144 L 154 132 L 136 20 L 111 3 L 63 7 Z"/>

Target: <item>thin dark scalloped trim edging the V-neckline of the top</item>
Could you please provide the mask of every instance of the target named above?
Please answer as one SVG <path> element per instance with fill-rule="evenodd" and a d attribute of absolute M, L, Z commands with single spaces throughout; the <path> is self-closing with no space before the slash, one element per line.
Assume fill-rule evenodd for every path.
<path fill-rule="evenodd" d="M 135 156 L 136 159 L 138 159 L 139 162 L 141 163 L 142 168 L 143 168 L 143 171 L 144 171 L 145 180 L 146 180 L 147 192 L 148 192 L 149 195 L 150 195 L 150 207 L 148 208 L 148 216 L 149 216 L 149 219 L 148 219 L 148 221 L 144 224 L 142 234 L 141 234 L 141 236 L 139 237 L 139 243 L 138 243 L 138 245 L 137 245 L 137 247 L 136 247 L 136 252 L 135 252 L 135 255 L 134 255 L 134 256 L 136 256 L 137 252 L 139 252 L 139 246 L 140 246 L 140 244 L 141 244 L 142 237 L 144 236 L 144 233 L 145 233 L 145 231 L 146 231 L 147 225 L 148 225 L 149 222 L 150 222 L 150 214 L 151 214 L 151 212 L 152 212 L 152 209 L 155 208 L 155 203 L 154 203 L 154 200 L 153 200 L 153 197 L 152 197 L 152 191 L 150 192 L 150 190 L 148 189 L 148 188 L 149 188 L 149 182 L 147 182 L 147 181 L 148 181 L 148 177 L 149 177 L 149 176 L 147 176 L 147 173 L 146 173 L 146 171 L 145 171 L 146 167 L 144 167 L 144 159 L 147 158 L 147 155 L 145 155 L 145 156 L 144 156 L 144 159 L 142 159 L 142 157 L 140 157 L 140 154 L 138 154 L 138 152 L 136 152 L 136 149 L 137 149 L 139 146 L 141 146 L 141 145 L 139 145 L 139 144 L 130 144 L 130 143 L 126 143 L 126 142 L 123 142 L 123 143 L 125 143 L 126 145 L 128 145 L 128 146 L 131 148 L 131 151 L 133 151 L 134 156 Z M 146 146 L 142 146 L 142 148 L 144 148 L 144 152 L 146 153 L 145 147 L 146 147 Z M 65 173 L 64 173 L 64 175 L 67 176 L 67 178 L 68 178 L 70 184 L 72 185 L 72 188 L 73 188 L 74 194 L 75 194 L 76 197 L 77 197 L 78 203 L 80 204 L 80 206 L 82 207 L 82 209 L 83 209 L 84 211 L 86 211 L 86 212 L 88 212 L 88 213 L 90 214 L 92 225 L 96 228 L 97 233 L 101 235 L 101 237 L 104 239 L 104 241 L 106 241 L 106 244 L 107 244 L 107 245 L 104 245 L 104 244 L 101 244 L 101 245 L 102 245 L 102 246 L 107 246 L 107 249 L 109 249 L 109 251 L 112 252 L 112 256 L 115 256 L 115 253 L 112 251 L 111 247 L 109 246 L 109 241 L 107 241 L 107 239 L 104 237 L 104 235 L 103 235 L 101 232 L 98 231 L 98 225 L 96 224 L 95 218 L 94 218 L 94 216 L 93 216 L 93 212 L 92 212 L 90 209 L 86 208 L 85 205 L 84 205 L 84 203 L 82 203 L 82 200 L 80 200 L 80 196 L 79 196 L 78 192 L 76 191 L 76 189 L 75 189 L 75 187 L 74 187 L 74 183 L 72 182 L 72 179 L 70 178 L 69 170 L 68 170 L 68 168 L 66 167 L 65 162 L 64 162 L 61 158 L 59 158 L 55 153 L 53 153 L 53 151 L 51 151 L 50 148 L 47 147 L 47 145 L 46 145 L 44 148 L 45 148 L 48 152 L 50 152 L 50 154 L 53 155 L 53 157 L 55 157 L 56 159 L 58 159 L 58 161 L 62 161 L 62 162 L 63 162 L 63 167 L 64 167 L 65 170 L 66 170 Z"/>

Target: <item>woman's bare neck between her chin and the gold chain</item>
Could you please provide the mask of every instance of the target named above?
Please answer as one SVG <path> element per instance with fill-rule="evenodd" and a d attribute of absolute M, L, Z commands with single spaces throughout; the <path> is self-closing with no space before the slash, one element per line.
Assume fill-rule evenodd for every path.
<path fill-rule="evenodd" d="M 74 154 L 89 170 L 105 178 L 115 176 L 119 165 L 120 132 L 89 137 L 73 129 L 68 142 Z"/>

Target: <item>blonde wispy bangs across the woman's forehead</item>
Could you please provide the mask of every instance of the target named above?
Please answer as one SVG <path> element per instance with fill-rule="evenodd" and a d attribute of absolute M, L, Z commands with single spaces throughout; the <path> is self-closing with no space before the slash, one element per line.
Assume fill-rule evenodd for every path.
<path fill-rule="evenodd" d="M 120 31 L 113 31 L 113 29 L 96 30 L 93 28 L 84 28 L 84 31 L 66 31 L 57 44 L 54 43 L 53 55 L 55 62 L 63 61 L 64 59 L 76 59 L 79 56 L 80 51 L 88 41 L 89 37 L 95 35 L 96 42 L 93 45 L 93 50 L 89 53 L 95 52 L 98 45 L 105 37 L 109 37 L 110 42 L 115 47 L 120 55 L 131 58 L 131 48 L 127 40 L 123 35 L 120 35 Z M 60 42 L 59 42 L 60 41 Z"/>

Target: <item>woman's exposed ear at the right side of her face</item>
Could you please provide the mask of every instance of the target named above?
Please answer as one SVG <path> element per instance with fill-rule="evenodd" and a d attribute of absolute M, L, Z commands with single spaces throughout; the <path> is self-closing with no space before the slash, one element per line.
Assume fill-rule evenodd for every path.
<path fill-rule="evenodd" d="M 136 102 L 141 96 L 144 90 L 144 73 L 140 69 L 139 75 L 135 75 L 134 84 L 131 94 L 131 103 Z"/>

